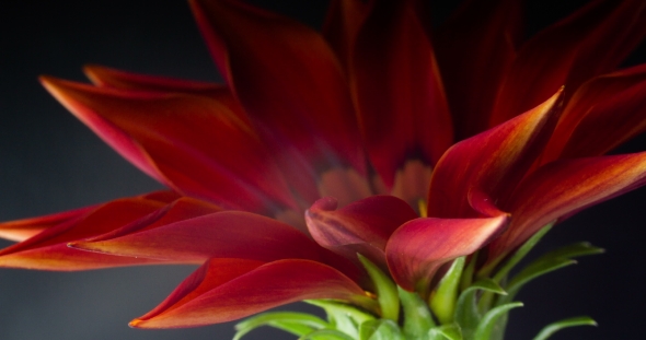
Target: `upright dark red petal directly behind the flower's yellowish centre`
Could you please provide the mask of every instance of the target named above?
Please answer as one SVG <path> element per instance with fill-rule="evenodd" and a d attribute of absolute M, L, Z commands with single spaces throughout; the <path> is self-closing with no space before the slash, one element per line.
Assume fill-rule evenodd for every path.
<path fill-rule="evenodd" d="M 357 36 L 351 72 L 368 153 L 387 187 L 407 159 L 434 165 L 453 141 L 451 118 L 411 1 L 374 3 Z"/>

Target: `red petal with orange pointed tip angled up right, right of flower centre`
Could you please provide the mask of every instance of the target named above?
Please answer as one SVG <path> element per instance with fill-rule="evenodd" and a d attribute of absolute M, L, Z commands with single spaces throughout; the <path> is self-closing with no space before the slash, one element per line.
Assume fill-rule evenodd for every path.
<path fill-rule="evenodd" d="M 469 202 L 471 191 L 504 200 L 542 151 L 558 119 L 561 93 L 488 131 L 453 145 L 430 180 L 428 215 L 481 216 Z"/>

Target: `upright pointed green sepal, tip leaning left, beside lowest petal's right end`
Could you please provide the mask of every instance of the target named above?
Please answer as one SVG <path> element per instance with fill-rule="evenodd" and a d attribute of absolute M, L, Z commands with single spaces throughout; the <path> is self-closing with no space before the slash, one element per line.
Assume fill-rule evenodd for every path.
<path fill-rule="evenodd" d="M 400 296 L 395 283 L 368 258 L 361 254 L 357 254 L 357 257 L 359 257 L 359 261 L 361 261 L 372 283 L 374 283 L 377 301 L 381 307 L 381 317 L 396 323 L 400 318 Z"/>

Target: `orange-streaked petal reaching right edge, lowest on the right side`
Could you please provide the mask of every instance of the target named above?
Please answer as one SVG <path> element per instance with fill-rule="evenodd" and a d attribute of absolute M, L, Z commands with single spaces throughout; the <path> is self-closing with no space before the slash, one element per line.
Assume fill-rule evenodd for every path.
<path fill-rule="evenodd" d="M 511 223 L 491 245 L 491 259 L 521 245 L 547 223 L 646 184 L 646 153 L 550 163 L 509 200 Z"/>

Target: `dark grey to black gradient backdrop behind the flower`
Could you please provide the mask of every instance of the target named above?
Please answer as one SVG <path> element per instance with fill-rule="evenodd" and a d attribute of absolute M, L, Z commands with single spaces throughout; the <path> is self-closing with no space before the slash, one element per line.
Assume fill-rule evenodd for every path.
<path fill-rule="evenodd" d="M 254 1 L 320 27 L 325 1 Z M 528 32 L 577 8 L 531 1 Z M 580 1 L 579 1 L 580 3 Z M 437 7 L 441 20 L 454 8 Z M 628 63 L 644 61 L 644 47 Z M 159 189 L 68 114 L 36 78 L 84 80 L 81 66 L 217 81 L 184 1 L 14 1 L 0 4 L 0 221 L 99 203 Z M 622 152 L 646 150 L 644 139 Z M 518 297 L 508 339 L 531 339 L 551 321 L 590 315 L 598 328 L 553 339 L 643 339 L 646 305 L 646 190 L 558 225 L 544 251 L 590 241 L 607 254 L 549 274 Z M 9 245 L 0 242 L 0 246 Z M 161 302 L 194 267 L 138 267 L 60 273 L 0 269 L 0 339 L 230 339 L 233 325 L 138 330 L 127 323 Z M 292 308 L 307 308 L 302 305 Z M 312 308 L 309 308 L 312 310 Z M 249 339 L 290 339 L 272 330 Z"/>

